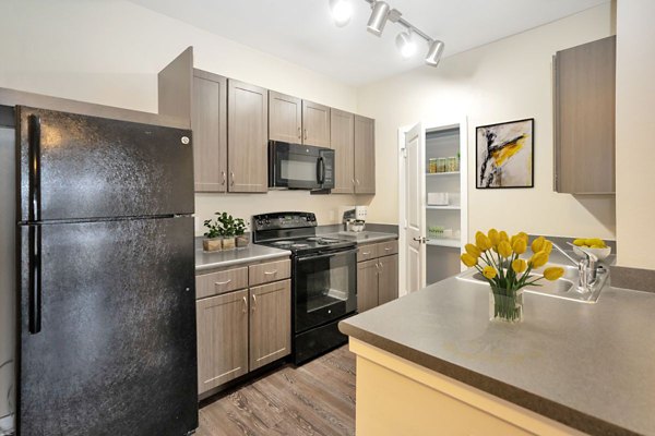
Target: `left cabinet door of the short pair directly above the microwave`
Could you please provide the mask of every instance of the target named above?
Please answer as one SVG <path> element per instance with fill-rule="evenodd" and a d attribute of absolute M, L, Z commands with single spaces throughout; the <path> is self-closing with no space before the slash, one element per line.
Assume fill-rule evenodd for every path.
<path fill-rule="evenodd" d="M 302 143 L 302 102 L 269 90 L 269 140 Z"/>

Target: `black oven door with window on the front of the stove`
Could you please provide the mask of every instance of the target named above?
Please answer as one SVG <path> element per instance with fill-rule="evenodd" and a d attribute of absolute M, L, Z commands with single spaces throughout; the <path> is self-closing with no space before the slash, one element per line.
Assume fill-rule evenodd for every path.
<path fill-rule="evenodd" d="M 357 250 L 294 261 L 294 330 L 301 332 L 357 310 Z"/>

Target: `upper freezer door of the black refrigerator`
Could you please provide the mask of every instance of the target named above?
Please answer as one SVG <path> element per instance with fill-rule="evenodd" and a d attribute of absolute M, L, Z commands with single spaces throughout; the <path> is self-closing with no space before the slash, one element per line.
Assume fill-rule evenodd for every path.
<path fill-rule="evenodd" d="M 26 107 L 16 119 L 21 221 L 193 214 L 190 131 Z"/>

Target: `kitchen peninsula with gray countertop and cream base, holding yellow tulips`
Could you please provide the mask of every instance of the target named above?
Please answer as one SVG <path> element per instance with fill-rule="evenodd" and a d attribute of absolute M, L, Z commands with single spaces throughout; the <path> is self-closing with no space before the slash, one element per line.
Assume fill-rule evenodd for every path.
<path fill-rule="evenodd" d="M 524 300 L 490 323 L 488 287 L 450 278 L 342 322 L 357 434 L 655 435 L 655 293 Z"/>

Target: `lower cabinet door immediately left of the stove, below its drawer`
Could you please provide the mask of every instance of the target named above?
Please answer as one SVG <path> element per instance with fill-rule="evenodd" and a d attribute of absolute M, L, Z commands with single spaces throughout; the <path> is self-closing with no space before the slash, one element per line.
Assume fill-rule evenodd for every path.
<path fill-rule="evenodd" d="M 250 371 L 291 352 L 291 281 L 250 289 Z"/>

